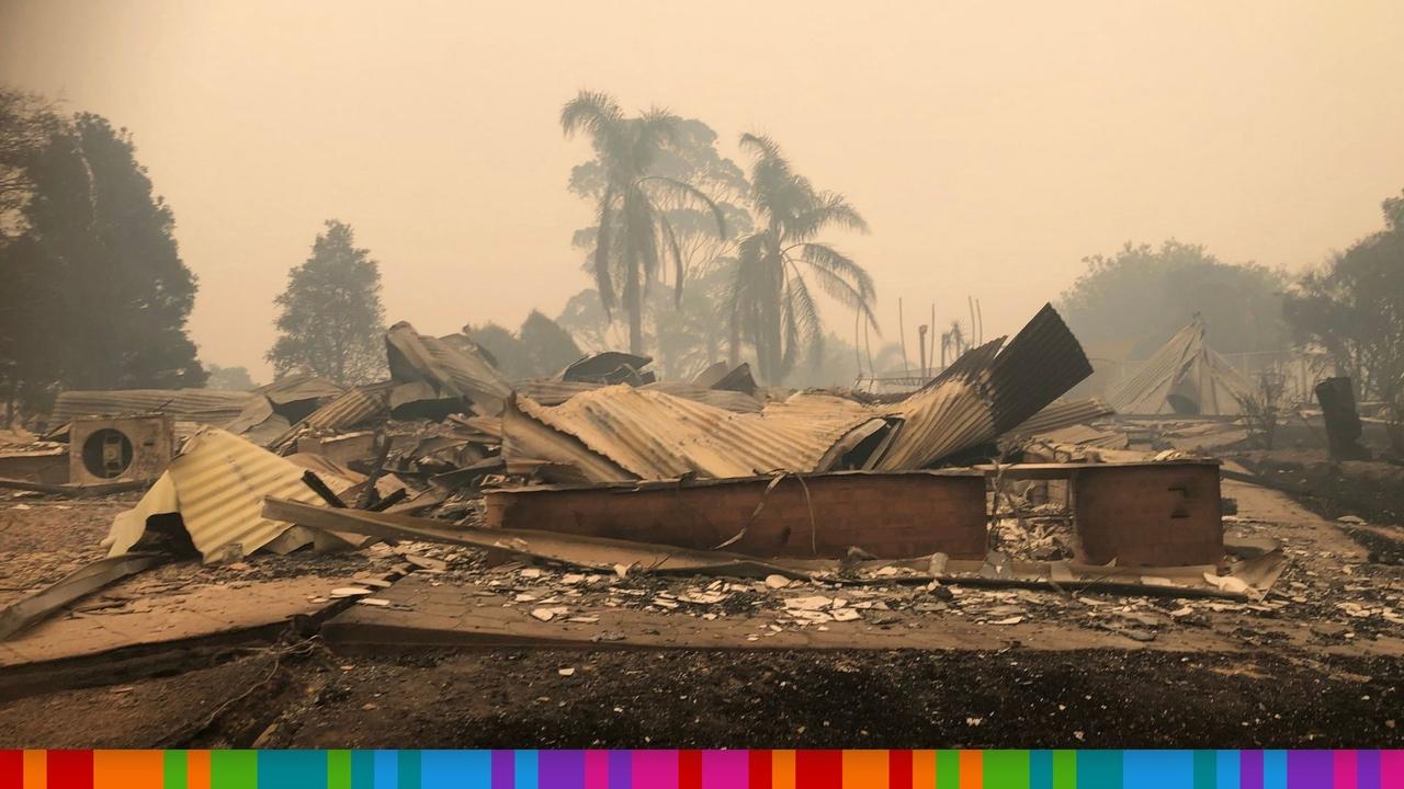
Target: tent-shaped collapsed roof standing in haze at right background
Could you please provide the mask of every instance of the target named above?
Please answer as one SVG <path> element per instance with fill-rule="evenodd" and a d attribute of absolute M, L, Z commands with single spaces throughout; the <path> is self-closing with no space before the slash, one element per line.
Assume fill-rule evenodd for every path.
<path fill-rule="evenodd" d="M 1252 383 L 1209 347 L 1205 326 L 1195 317 L 1113 386 L 1106 400 L 1119 414 L 1240 416 L 1241 402 L 1252 390 Z"/>

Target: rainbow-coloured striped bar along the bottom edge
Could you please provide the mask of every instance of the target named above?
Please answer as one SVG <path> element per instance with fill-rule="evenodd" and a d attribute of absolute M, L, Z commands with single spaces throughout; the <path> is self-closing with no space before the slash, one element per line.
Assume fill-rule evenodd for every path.
<path fill-rule="evenodd" d="M 0 751 L 0 789 L 1389 789 L 1404 751 Z"/>

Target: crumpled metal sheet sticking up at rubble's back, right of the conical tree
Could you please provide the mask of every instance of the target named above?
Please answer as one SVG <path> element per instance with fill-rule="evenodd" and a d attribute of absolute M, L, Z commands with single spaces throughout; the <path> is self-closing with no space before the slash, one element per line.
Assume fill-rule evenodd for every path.
<path fill-rule="evenodd" d="M 511 386 L 466 337 L 449 343 L 414 331 L 407 321 L 385 333 L 390 376 L 397 382 L 423 380 L 442 394 L 466 397 L 483 414 L 496 414 Z"/>

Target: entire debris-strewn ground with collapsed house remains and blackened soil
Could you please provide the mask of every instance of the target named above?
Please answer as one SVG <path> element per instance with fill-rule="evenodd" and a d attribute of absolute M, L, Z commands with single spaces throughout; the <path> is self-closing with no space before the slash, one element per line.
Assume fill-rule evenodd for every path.
<path fill-rule="evenodd" d="M 508 380 L 407 323 L 386 357 L 0 432 L 0 736 L 1404 743 L 1404 532 L 1351 500 L 1390 463 L 1247 449 L 1193 326 L 1108 400 L 1061 399 L 1091 365 L 1052 307 L 899 396 Z M 1358 482 L 1323 504 L 1323 468 Z"/>

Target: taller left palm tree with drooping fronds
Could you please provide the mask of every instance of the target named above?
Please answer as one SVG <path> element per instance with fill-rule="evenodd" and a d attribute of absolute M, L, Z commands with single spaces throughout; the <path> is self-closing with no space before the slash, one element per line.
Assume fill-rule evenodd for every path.
<path fill-rule="evenodd" d="M 580 91 L 560 110 L 566 136 L 577 131 L 588 133 L 605 167 L 592 265 L 595 288 L 608 314 L 616 305 L 616 279 L 623 279 L 623 310 L 629 314 L 629 351 L 633 354 L 643 352 L 643 296 L 668 257 L 677 267 L 674 299 L 682 299 L 682 251 L 656 197 L 668 194 L 701 202 L 712 211 L 717 234 L 726 236 L 722 211 L 708 195 L 691 184 L 650 171 L 678 124 L 677 115 L 658 108 L 626 118 L 619 104 L 604 93 Z"/>

